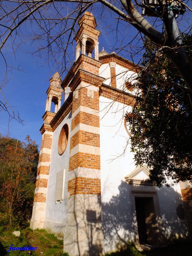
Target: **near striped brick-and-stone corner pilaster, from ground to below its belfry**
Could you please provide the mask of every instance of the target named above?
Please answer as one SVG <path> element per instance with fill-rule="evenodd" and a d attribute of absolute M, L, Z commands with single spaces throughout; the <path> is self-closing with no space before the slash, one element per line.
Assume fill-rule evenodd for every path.
<path fill-rule="evenodd" d="M 99 256 L 103 255 L 99 120 L 103 78 L 98 76 L 100 61 L 84 55 L 77 61 L 83 69 L 75 65 L 69 84 L 73 102 L 64 251 L 73 256 Z"/>

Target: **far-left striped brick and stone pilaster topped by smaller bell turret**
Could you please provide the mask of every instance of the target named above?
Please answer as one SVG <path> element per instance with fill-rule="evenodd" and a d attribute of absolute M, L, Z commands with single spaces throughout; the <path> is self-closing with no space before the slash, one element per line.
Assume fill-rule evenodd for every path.
<path fill-rule="evenodd" d="M 45 113 L 43 115 L 44 124 L 40 128 L 42 134 L 41 148 L 39 152 L 39 162 L 36 177 L 36 188 L 33 204 L 33 213 L 31 217 L 30 227 L 43 228 L 45 218 L 45 206 L 46 206 L 46 194 L 47 184 L 49 179 L 49 166 L 52 146 L 52 127 L 50 125 L 51 120 L 56 115 L 61 106 L 61 95 L 63 89 L 61 89 L 61 78 L 58 72 L 56 72 L 50 81 L 50 86 L 47 90 L 47 101 Z M 54 112 L 51 112 L 51 103 L 55 104 Z"/>

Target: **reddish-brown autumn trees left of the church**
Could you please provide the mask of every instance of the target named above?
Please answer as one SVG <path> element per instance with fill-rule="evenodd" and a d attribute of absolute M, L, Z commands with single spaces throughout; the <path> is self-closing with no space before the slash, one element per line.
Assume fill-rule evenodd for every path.
<path fill-rule="evenodd" d="M 8 227 L 31 214 L 38 155 L 29 135 L 25 142 L 0 137 L 0 205 L 1 213 L 8 216 Z"/>

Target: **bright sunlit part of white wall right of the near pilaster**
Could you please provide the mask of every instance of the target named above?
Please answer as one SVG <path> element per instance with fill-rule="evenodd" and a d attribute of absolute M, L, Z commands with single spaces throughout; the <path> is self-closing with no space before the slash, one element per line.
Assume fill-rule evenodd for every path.
<path fill-rule="evenodd" d="M 129 136 L 124 128 L 124 115 L 127 110 L 130 111 L 131 107 L 100 97 L 100 156 L 103 202 L 108 202 L 112 196 L 118 194 L 118 186 L 122 177 L 125 177 L 135 168 L 130 146 L 127 145 Z"/>

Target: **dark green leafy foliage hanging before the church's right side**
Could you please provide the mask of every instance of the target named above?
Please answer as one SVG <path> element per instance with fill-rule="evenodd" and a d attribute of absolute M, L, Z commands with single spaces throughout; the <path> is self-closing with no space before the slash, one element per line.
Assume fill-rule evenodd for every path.
<path fill-rule="evenodd" d="M 186 35 L 185 47 L 192 59 L 192 36 Z M 152 59 L 157 47 L 146 39 L 143 66 Z M 137 165 L 147 164 L 150 178 L 160 186 L 191 180 L 192 105 L 179 72 L 163 54 L 158 54 L 136 84 L 140 92 L 132 114 L 126 119 L 132 132 L 132 152 Z M 192 95 L 190 95 L 192 99 Z M 169 181 L 168 181 L 169 180 Z M 168 181 L 168 182 L 167 182 Z"/>

